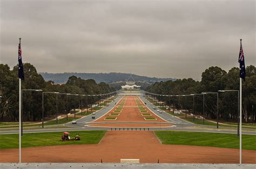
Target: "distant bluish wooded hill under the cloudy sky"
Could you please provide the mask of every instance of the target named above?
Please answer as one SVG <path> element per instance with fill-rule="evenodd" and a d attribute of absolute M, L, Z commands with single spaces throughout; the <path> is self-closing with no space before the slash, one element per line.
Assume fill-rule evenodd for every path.
<path fill-rule="evenodd" d="M 129 73 L 39 73 L 43 76 L 45 81 L 53 81 L 55 83 L 66 83 L 70 76 L 77 76 L 81 79 L 94 79 L 97 83 L 115 83 L 124 82 L 129 77 Z M 150 78 L 147 76 L 139 76 L 132 74 L 132 78 L 137 82 L 154 83 L 159 81 L 176 80 L 172 78 Z"/>

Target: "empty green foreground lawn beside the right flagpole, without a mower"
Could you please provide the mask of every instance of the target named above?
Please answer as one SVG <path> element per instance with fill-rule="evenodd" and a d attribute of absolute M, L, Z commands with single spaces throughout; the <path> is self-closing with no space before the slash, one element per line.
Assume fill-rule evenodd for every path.
<path fill-rule="evenodd" d="M 236 134 L 189 131 L 155 131 L 162 144 L 196 145 L 239 149 Z M 256 136 L 242 135 L 242 149 L 256 150 Z"/>

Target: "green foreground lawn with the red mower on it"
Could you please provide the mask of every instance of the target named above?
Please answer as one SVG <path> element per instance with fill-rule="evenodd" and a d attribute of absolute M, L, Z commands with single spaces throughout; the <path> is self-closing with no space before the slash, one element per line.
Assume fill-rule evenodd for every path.
<path fill-rule="evenodd" d="M 22 147 L 68 145 L 68 144 L 98 144 L 106 131 L 68 131 L 70 137 L 75 137 L 79 133 L 80 141 L 60 141 L 63 132 L 41 132 L 23 133 Z M 19 147 L 19 135 L 0 135 L 0 149 L 17 149 Z"/>

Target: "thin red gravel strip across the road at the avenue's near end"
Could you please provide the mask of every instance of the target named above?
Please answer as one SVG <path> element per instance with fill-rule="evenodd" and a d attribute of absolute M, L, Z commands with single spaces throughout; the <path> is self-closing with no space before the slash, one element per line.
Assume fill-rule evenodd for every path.
<path fill-rule="evenodd" d="M 89 124 L 87 126 L 102 126 L 102 127 L 110 127 L 110 128 L 166 128 L 171 127 L 171 124 L 122 124 L 122 123 L 111 123 L 111 124 Z M 134 129 L 135 130 L 135 129 Z"/>

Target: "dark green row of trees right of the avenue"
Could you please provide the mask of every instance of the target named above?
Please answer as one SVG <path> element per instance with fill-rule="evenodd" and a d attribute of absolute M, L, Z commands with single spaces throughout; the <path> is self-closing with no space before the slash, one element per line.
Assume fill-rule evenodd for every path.
<path fill-rule="evenodd" d="M 245 122 L 255 122 L 256 113 L 256 68 L 247 66 L 246 79 L 242 82 L 242 119 Z M 193 111 L 193 97 L 196 114 L 206 118 L 217 118 L 217 95 L 205 95 L 205 114 L 203 115 L 203 92 L 218 92 L 219 90 L 239 90 L 239 68 L 233 67 L 228 72 L 220 67 L 209 67 L 201 74 L 201 81 L 191 78 L 176 81 L 156 82 L 147 87 L 146 91 L 161 95 L 189 95 L 174 97 L 176 108 L 187 108 Z M 238 92 L 219 92 L 219 118 L 223 121 L 237 121 L 238 119 Z M 157 96 L 158 100 L 167 104 L 173 103 L 173 97 Z"/>

